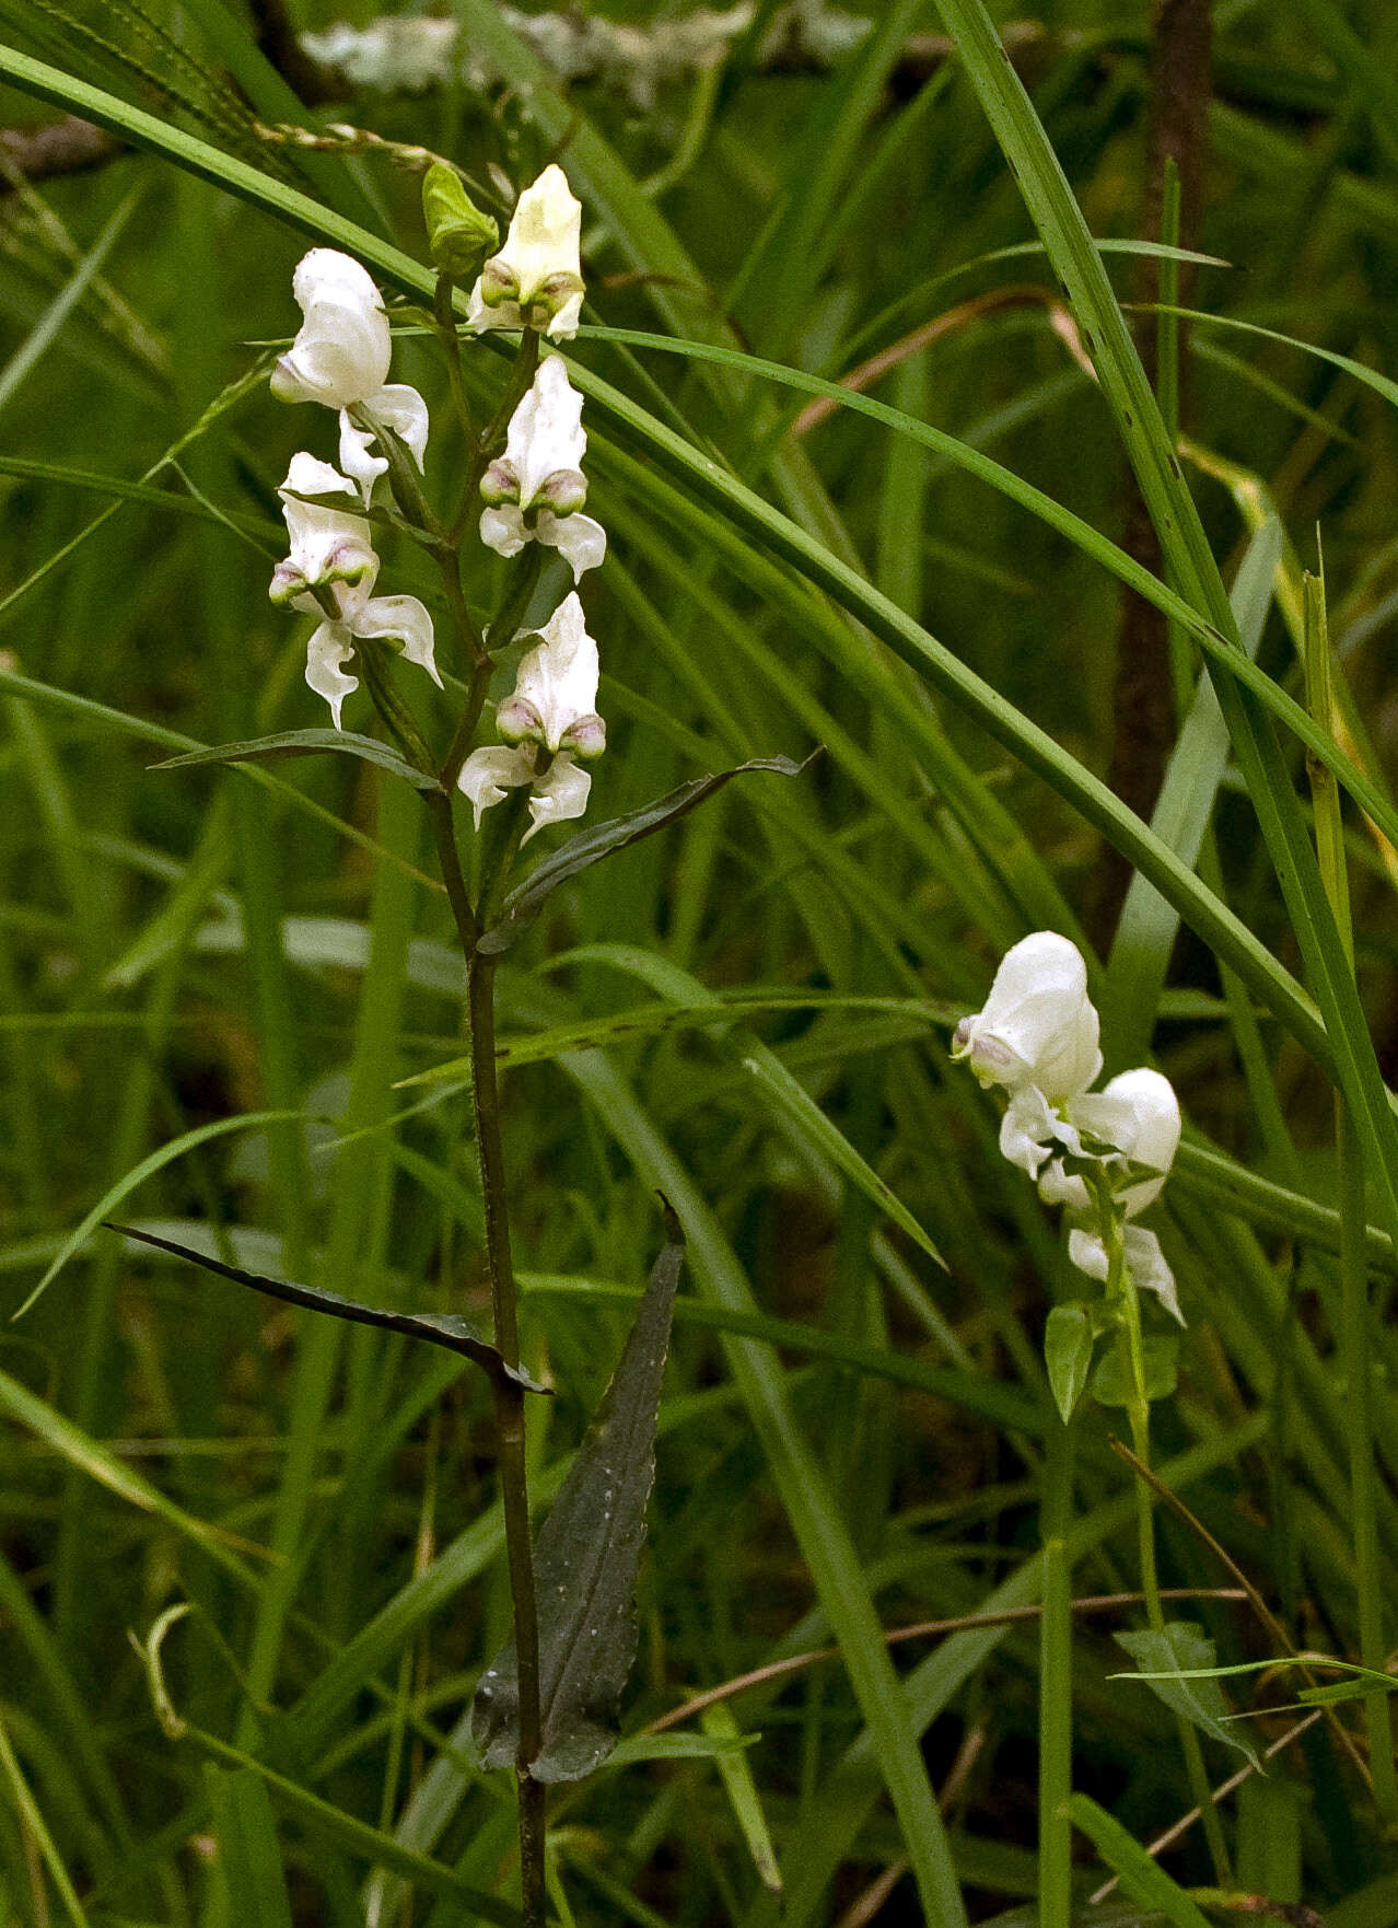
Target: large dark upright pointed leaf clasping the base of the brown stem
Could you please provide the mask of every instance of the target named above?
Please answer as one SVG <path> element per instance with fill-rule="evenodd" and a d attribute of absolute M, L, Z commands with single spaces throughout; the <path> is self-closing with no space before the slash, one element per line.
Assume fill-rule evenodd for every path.
<path fill-rule="evenodd" d="M 577 1781 L 617 1745 L 615 1708 L 636 1656 L 632 1593 L 656 1481 L 656 1417 L 685 1261 L 679 1220 L 650 1274 L 621 1363 L 569 1467 L 534 1552 L 538 1585 L 540 1781 Z M 470 1739 L 484 1768 L 519 1753 L 513 1637 L 476 1687 Z"/>

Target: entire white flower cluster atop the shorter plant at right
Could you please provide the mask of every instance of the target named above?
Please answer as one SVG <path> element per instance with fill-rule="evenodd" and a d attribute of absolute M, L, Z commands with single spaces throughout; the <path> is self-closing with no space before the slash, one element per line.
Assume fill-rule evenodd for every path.
<path fill-rule="evenodd" d="M 1136 1286 L 1155 1292 L 1184 1325 L 1159 1238 L 1130 1222 L 1159 1197 L 1174 1163 L 1180 1105 L 1169 1078 L 1145 1066 L 1089 1091 L 1101 1072 L 1097 1035 L 1082 952 L 1055 931 L 1035 931 L 1005 952 L 985 1008 L 962 1018 L 951 1055 L 966 1058 L 981 1085 L 1008 1091 L 1001 1151 L 1037 1180 L 1043 1199 L 1066 1207 L 1072 1263 L 1107 1278 L 1107 1247 L 1082 1176 L 1095 1163 L 1126 1220 Z"/>

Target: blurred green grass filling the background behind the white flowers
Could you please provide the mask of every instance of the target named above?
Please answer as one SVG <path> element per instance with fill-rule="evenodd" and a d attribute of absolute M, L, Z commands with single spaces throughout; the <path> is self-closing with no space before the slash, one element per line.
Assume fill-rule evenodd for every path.
<path fill-rule="evenodd" d="M 1197 54 L 1190 67 L 1188 13 L 995 8 L 1099 239 L 1159 233 L 1149 137 L 1169 102 L 1151 108 L 1151 62 L 1169 93 L 1176 60 L 1196 127 L 1184 237 L 1217 256 L 1186 276 L 1188 303 L 1392 370 L 1398 13 L 1379 0 L 1217 0 L 1211 71 Z M 1196 8 L 1196 25 L 1207 13 Z M 480 31 L 482 15 L 505 21 L 503 39 Z M 289 83 L 324 118 L 449 156 L 486 193 L 492 170 L 521 185 L 557 154 L 586 202 L 588 320 L 831 378 L 862 370 L 877 399 L 1130 538 L 1140 517 L 1111 416 L 1045 256 L 1026 251 L 1016 183 L 933 8 L 891 0 L 862 27 L 764 4 L 729 31 L 740 23 L 696 25 L 634 0 L 561 13 L 561 39 L 530 40 L 519 17 L 463 0 L 469 56 L 415 89 L 337 77 L 328 42 L 293 33 L 374 17 L 366 0 L 289 0 L 289 17 L 222 0 L 0 0 L 13 44 L 337 195 L 418 258 L 411 174 L 258 137 L 258 121 L 293 118 Z M 594 71 L 577 48 L 604 17 L 638 39 L 604 37 Z M 256 31 L 282 77 L 253 50 Z M 557 58 L 565 42 L 582 71 L 540 75 L 534 48 Z M 228 393 L 293 328 L 305 237 L 152 156 L 83 148 L 71 127 L 44 147 L 37 129 L 54 118 L 15 91 L 0 102 L 12 129 L 0 145 L 4 1303 L 25 1299 L 83 1215 L 156 1147 L 262 1109 L 310 1122 L 208 1136 L 118 1217 L 264 1271 L 318 1269 L 386 1303 L 478 1303 L 469 1101 L 393 1089 L 461 1049 L 459 966 L 422 877 L 415 800 L 349 760 L 283 765 L 280 787 L 147 769 L 179 746 L 160 731 L 218 742 L 324 721 L 301 681 L 305 636 L 266 602 L 274 490 L 324 422 L 278 407 L 262 382 Z M 609 148 L 605 197 L 573 170 L 578 129 Z M 56 152 L 85 166 L 60 172 Z M 1124 299 L 1153 297 L 1140 256 L 1107 260 Z M 1138 328 L 1153 345 L 1155 320 Z M 1149 814 L 1174 731 L 1167 638 L 1095 561 L 856 413 L 798 416 L 810 395 L 607 339 L 584 335 L 578 355 Z M 470 368 L 480 393 L 497 388 L 490 357 Z M 411 332 L 395 372 L 445 420 L 440 366 Z M 1298 559 L 1317 565 L 1319 532 L 1350 742 L 1390 773 L 1392 401 L 1332 361 L 1217 322 L 1188 328 L 1180 386 L 1188 476 L 1226 578 L 1269 511 L 1286 532 L 1259 661 L 1300 686 L 1288 598 Z M 1105 952 L 1124 873 L 1055 790 L 891 667 L 868 630 L 588 422 L 590 509 L 611 540 L 588 582 L 609 725 L 596 814 L 737 756 L 804 756 L 816 742 L 827 756 L 800 785 L 729 789 L 559 893 L 501 974 L 507 1037 L 548 1033 L 540 1062 L 505 1087 L 526 1355 L 557 1388 L 534 1419 L 538 1469 L 577 1440 L 605 1384 L 625 1330 L 611 1288 L 644 1278 L 663 1176 L 712 1215 L 704 1263 L 731 1263 L 760 1317 L 794 1323 L 767 1326 L 781 1344 L 752 1352 L 816 1450 L 881 1621 L 1032 1604 L 1039 1336 L 1053 1298 L 1076 1288 L 1051 1220 L 995 1155 L 991 1107 L 949 1072 L 945 1026 L 981 1003 L 995 958 L 1037 924 L 1076 925 Z M 449 461 L 442 434 L 428 451 L 438 499 Z M 482 605 L 494 567 L 478 565 Z M 393 551 L 393 588 L 434 600 L 407 548 Z M 363 729 L 366 713 L 349 721 Z M 1296 968 L 1232 771 L 1213 821 L 1223 895 Z M 1359 981 L 1392 1076 L 1394 858 L 1358 817 L 1350 854 Z M 1325 1084 L 1271 1026 L 1228 1014 L 1221 989 L 1186 933 L 1157 1014 L 1159 1064 L 1197 1134 L 1329 1203 Z M 719 1022 L 696 1008 L 706 991 L 744 991 L 760 1008 Z M 661 1022 L 663 1004 L 677 1014 Z M 646 1016 L 619 1026 L 636 1006 Z M 843 1176 L 783 1103 L 781 1074 L 897 1192 L 945 1271 Z M 1178 1394 L 1157 1409 L 1159 1456 L 1290 1637 L 1354 1658 L 1334 1263 L 1323 1240 L 1219 1203 L 1188 1170 L 1163 1234 L 1190 1328 Z M 764 1417 L 725 1344 L 702 1317 L 681 1319 L 629 1733 L 829 1637 L 773 1475 L 777 1406 Z M 245 1781 L 231 1756 L 208 1770 L 206 1747 L 162 1733 L 127 1641 L 179 1600 L 195 1614 L 170 1633 L 170 1693 L 206 1735 L 283 1778 L 272 1807 L 291 1918 L 476 1918 L 451 1880 L 494 1889 L 513 1830 L 507 1789 L 451 1741 L 507 1618 L 484 1388 L 401 1340 L 341 1338 L 98 1234 L 4 1328 L 0 1411 L 4 1918 L 249 1918 L 229 1888 Z M 1095 1411 L 1084 1448 L 1078 1504 L 1095 1527 L 1082 1594 L 1138 1583 L 1109 1419 Z M 1390 1398 L 1377 1431 L 1392 1596 Z M 1161 1550 L 1167 1585 L 1230 1585 L 1172 1515 Z M 1223 1660 L 1277 1650 L 1248 1604 L 1190 1614 Z M 1076 1785 L 1149 1841 L 1192 1799 L 1167 1710 L 1107 1679 L 1124 1664 L 1111 1629 L 1128 1620 L 1116 1610 L 1080 1627 Z M 924 1635 L 895 1652 L 901 1670 L 916 1664 L 924 1756 L 970 1918 L 1028 1924 L 1035 1629 Z M 1275 1706 L 1292 1685 L 1244 1679 L 1234 1706 L 1253 1693 Z M 617 1768 L 559 1803 L 577 1920 L 920 1918 L 845 1670 L 806 1666 L 733 1710 L 762 1735 L 742 1756 L 750 1781 L 677 1758 Z M 1290 1722 L 1250 1729 L 1273 1741 Z M 1213 1743 L 1207 1758 L 1215 1780 L 1240 1760 Z M 752 1801 L 785 1915 L 754 1859 Z M 1390 1843 L 1327 1727 L 1224 1812 L 1240 1891 L 1305 1903 L 1331 1928 L 1398 1922 Z M 1197 1886 L 1215 1876 L 1196 1834 L 1167 1864 Z M 384 1837 L 445 1874 L 418 1868 L 415 1886 Z M 1103 1878 L 1084 1849 L 1084 1899 Z M 1111 1907 L 1084 1920 L 1147 1918 Z"/>

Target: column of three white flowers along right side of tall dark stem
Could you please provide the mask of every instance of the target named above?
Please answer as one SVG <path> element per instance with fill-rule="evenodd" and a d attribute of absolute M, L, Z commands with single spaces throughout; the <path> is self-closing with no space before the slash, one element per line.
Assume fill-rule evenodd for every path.
<path fill-rule="evenodd" d="M 582 210 L 561 168 L 546 168 L 515 206 L 509 235 L 480 270 L 469 320 L 484 328 L 542 328 L 573 335 L 582 307 L 578 229 Z M 519 555 L 528 542 L 557 549 L 573 582 L 607 553 L 600 522 L 582 515 L 588 484 L 582 457 L 582 397 L 557 355 L 538 368 L 505 432 L 505 453 L 480 482 L 486 503 L 480 540 L 497 555 Z M 582 762 L 602 756 L 607 729 L 598 715 L 598 646 L 575 592 L 538 630 L 515 673 L 515 690 L 496 711 L 503 744 L 472 750 L 457 779 L 480 829 L 482 812 L 505 792 L 530 787 L 530 827 L 580 817 L 592 777 Z"/>

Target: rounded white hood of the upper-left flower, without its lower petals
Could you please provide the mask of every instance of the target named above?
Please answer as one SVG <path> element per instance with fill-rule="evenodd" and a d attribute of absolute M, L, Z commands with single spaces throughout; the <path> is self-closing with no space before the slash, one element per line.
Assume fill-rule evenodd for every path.
<path fill-rule="evenodd" d="M 303 254 L 291 293 L 305 320 L 272 370 L 278 401 L 347 409 L 388 380 L 391 341 L 384 303 L 366 268 L 337 249 Z"/>

